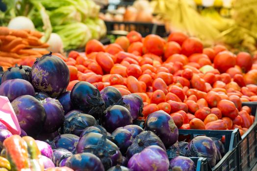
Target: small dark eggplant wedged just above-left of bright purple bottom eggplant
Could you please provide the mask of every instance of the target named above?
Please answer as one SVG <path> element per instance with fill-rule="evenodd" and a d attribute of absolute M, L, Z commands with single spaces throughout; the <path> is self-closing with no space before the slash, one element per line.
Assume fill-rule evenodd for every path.
<path fill-rule="evenodd" d="M 115 144 L 120 148 L 122 154 L 125 154 L 128 147 L 132 144 L 132 135 L 127 129 L 117 128 L 112 134 Z"/>

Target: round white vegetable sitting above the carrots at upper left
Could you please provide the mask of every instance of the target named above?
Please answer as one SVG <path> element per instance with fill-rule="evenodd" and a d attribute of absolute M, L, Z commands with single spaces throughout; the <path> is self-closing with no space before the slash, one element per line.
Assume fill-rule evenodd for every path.
<path fill-rule="evenodd" d="M 22 29 L 29 29 L 32 31 L 35 30 L 35 26 L 33 22 L 29 18 L 24 16 L 15 17 L 14 19 L 12 19 L 8 24 L 8 28 L 16 29 L 16 30 L 22 30 Z"/>

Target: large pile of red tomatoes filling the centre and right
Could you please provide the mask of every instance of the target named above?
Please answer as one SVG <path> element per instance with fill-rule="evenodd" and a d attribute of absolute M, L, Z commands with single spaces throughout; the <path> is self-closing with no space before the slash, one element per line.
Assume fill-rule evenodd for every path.
<path fill-rule="evenodd" d="M 237 55 L 223 45 L 204 48 L 197 38 L 174 32 L 167 41 L 135 31 L 115 43 L 97 40 L 85 53 L 59 55 L 69 67 L 71 82 L 114 86 L 122 95 L 136 93 L 144 101 L 144 120 L 156 110 L 169 113 L 181 129 L 234 129 L 242 135 L 255 121 L 250 107 L 257 101 L 257 58 Z"/>

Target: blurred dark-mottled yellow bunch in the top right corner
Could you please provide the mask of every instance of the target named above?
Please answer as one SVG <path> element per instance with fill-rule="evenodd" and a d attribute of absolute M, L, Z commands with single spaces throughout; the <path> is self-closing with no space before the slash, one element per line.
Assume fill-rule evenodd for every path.
<path fill-rule="evenodd" d="M 257 33 L 257 0 L 234 0 L 232 16 L 235 22 Z"/>

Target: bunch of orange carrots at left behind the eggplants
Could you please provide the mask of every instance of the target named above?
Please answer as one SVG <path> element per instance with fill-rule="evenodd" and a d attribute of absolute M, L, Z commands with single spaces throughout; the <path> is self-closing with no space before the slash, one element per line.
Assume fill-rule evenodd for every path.
<path fill-rule="evenodd" d="M 0 66 L 6 70 L 27 58 L 37 58 L 49 53 L 45 50 L 48 44 L 40 41 L 42 36 L 39 31 L 0 27 Z"/>

